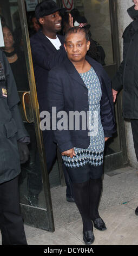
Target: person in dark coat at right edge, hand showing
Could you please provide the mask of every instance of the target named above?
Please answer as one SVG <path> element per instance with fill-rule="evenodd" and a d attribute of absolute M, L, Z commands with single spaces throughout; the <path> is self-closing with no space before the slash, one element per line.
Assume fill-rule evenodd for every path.
<path fill-rule="evenodd" d="M 138 0 L 127 12 L 133 21 L 123 33 L 123 61 L 112 80 L 114 102 L 123 89 L 123 117 L 130 119 L 138 161 Z M 135 210 L 138 215 L 138 206 Z"/>

